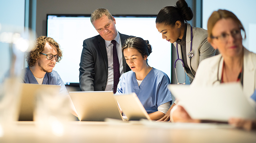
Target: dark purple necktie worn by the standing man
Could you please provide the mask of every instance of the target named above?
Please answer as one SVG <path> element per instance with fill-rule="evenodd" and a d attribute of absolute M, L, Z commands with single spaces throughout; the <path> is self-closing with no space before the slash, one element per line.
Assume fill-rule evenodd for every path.
<path fill-rule="evenodd" d="M 113 92 L 116 93 L 116 88 L 117 84 L 119 82 L 120 78 L 120 70 L 119 70 L 119 60 L 117 56 L 117 51 L 116 51 L 116 41 L 112 40 L 111 43 L 113 43 L 113 68 L 114 68 L 114 89 Z"/>

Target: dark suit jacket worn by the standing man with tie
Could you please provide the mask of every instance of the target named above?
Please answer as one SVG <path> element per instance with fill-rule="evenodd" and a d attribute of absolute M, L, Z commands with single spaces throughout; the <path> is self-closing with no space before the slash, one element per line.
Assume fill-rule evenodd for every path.
<path fill-rule="evenodd" d="M 121 45 L 128 35 L 119 33 Z M 130 67 L 123 56 L 123 72 L 128 72 Z M 80 62 L 79 84 L 81 91 L 105 91 L 108 76 L 108 59 L 105 40 L 94 36 L 83 42 L 83 51 Z"/>

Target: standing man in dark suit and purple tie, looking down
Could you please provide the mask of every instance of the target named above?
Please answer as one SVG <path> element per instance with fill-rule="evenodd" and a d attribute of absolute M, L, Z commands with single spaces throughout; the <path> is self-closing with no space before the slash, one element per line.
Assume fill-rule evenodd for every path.
<path fill-rule="evenodd" d="M 83 42 L 79 69 L 80 89 L 81 91 L 114 91 L 115 93 L 117 83 L 114 73 L 116 73 L 116 68 L 114 70 L 113 65 L 119 61 L 119 65 L 115 66 L 119 67 L 119 76 L 131 70 L 121 51 L 123 41 L 130 36 L 116 30 L 115 18 L 107 9 L 99 8 L 93 11 L 91 23 L 99 35 Z M 113 40 L 115 40 L 114 43 Z M 116 50 L 113 50 L 113 47 L 116 47 Z M 113 51 L 116 52 L 113 53 Z M 118 57 L 114 56 L 116 53 Z M 119 79 L 117 80 L 119 81 Z"/>

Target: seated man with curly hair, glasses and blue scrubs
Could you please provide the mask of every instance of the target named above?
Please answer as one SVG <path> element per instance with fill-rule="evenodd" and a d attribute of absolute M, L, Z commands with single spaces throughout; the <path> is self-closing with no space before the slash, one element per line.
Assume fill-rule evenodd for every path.
<path fill-rule="evenodd" d="M 60 85 L 60 94 L 67 95 L 72 108 L 71 113 L 77 116 L 66 86 L 60 75 L 53 70 L 55 64 L 62 58 L 60 45 L 51 37 L 40 36 L 36 39 L 33 49 L 26 54 L 28 67 L 24 68 L 23 82 L 32 84 Z"/>

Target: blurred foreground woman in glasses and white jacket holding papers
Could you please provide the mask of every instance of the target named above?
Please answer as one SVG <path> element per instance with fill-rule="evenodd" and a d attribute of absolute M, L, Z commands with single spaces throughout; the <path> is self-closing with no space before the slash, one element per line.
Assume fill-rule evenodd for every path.
<path fill-rule="evenodd" d="M 243 47 L 242 35 L 244 34 L 245 38 L 246 34 L 241 21 L 231 11 L 218 10 L 210 16 L 207 27 L 208 41 L 214 49 L 220 51 L 220 54 L 202 61 L 190 86 L 241 83 L 243 96 L 246 96 L 251 106 L 256 108 L 256 54 Z M 172 119 L 179 122 L 200 122 L 192 119 L 182 106 L 172 109 Z M 240 128 L 256 129 L 256 120 L 230 118 L 228 123 Z"/>

